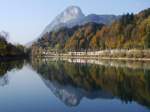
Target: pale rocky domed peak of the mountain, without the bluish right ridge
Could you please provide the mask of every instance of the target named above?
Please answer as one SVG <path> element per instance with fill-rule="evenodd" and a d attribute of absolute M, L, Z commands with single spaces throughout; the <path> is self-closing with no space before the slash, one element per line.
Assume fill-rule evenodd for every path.
<path fill-rule="evenodd" d="M 70 6 L 56 16 L 55 19 L 44 29 L 42 34 L 61 27 L 73 27 L 74 25 L 77 25 L 76 23 L 84 17 L 85 15 L 79 7 Z"/>

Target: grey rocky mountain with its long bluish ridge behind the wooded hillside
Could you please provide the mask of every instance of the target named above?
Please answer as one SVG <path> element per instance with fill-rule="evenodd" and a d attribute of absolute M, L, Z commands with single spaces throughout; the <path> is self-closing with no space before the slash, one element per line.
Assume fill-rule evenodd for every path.
<path fill-rule="evenodd" d="M 70 6 L 57 17 L 55 17 L 55 19 L 49 25 L 47 25 L 40 37 L 47 32 L 58 30 L 62 27 L 72 28 L 76 25 L 84 25 L 89 22 L 111 24 L 112 21 L 116 20 L 117 18 L 118 16 L 115 15 L 90 14 L 85 16 L 79 7 Z"/>

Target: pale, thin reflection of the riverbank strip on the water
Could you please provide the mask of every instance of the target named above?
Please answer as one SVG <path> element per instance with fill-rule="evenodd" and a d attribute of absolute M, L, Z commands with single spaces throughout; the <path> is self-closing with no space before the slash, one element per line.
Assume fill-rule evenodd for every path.
<path fill-rule="evenodd" d="M 35 59 L 35 58 L 34 58 Z M 34 60 L 33 59 L 33 60 Z M 148 61 L 147 61 L 148 60 Z M 48 63 L 49 61 L 65 61 L 69 63 L 95 64 L 101 66 L 112 67 L 127 67 L 132 69 L 150 69 L 150 59 L 128 59 L 128 58 L 91 58 L 91 57 L 56 57 L 50 56 L 45 58 L 38 58 L 34 61 L 41 63 Z"/>

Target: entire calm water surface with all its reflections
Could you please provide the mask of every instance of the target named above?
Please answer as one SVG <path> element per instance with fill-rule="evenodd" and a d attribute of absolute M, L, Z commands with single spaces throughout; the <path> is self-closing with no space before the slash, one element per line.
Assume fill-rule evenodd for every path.
<path fill-rule="evenodd" d="M 0 62 L 0 112 L 150 112 L 150 63 Z"/>

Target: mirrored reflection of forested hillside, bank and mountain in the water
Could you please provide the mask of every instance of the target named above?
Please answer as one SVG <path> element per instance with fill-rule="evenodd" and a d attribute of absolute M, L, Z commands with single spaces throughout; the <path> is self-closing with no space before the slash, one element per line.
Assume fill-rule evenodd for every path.
<path fill-rule="evenodd" d="M 150 108 L 149 65 L 79 59 L 32 61 L 46 86 L 68 106 L 77 106 L 86 97 L 134 101 Z"/>

